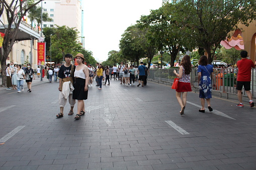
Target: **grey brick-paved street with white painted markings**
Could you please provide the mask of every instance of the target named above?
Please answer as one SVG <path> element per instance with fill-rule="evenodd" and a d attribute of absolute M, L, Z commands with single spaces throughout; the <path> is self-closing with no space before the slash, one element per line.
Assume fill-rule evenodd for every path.
<path fill-rule="evenodd" d="M 80 120 L 68 104 L 55 118 L 58 82 L 37 79 L 31 93 L 0 88 L 0 170 L 256 169 L 256 107 L 214 96 L 214 111 L 201 113 L 190 92 L 181 116 L 170 86 L 119 83 L 94 83 Z"/>

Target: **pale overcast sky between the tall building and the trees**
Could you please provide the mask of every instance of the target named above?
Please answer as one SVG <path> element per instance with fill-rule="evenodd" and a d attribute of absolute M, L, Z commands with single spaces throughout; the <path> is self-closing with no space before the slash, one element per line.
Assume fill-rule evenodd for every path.
<path fill-rule="evenodd" d="M 86 50 L 92 51 L 97 61 L 106 61 L 109 51 L 119 50 L 124 31 L 161 4 L 162 0 L 83 0 Z"/>

